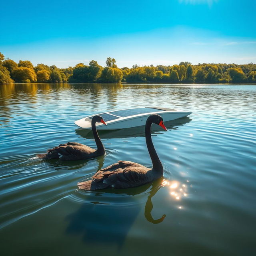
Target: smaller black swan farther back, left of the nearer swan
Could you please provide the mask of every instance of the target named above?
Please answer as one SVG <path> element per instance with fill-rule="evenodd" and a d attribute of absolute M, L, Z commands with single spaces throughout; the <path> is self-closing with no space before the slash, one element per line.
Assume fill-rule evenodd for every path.
<path fill-rule="evenodd" d="M 77 142 L 68 142 L 60 144 L 58 147 L 48 149 L 46 154 L 37 155 L 43 160 L 46 159 L 61 159 L 61 160 L 81 160 L 102 156 L 105 154 L 105 148 L 100 140 L 96 130 L 96 122 L 107 125 L 101 116 L 94 116 L 92 118 L 92 132 L 96 142 L 97 149 L 90 148 L 86 145 Z"/>

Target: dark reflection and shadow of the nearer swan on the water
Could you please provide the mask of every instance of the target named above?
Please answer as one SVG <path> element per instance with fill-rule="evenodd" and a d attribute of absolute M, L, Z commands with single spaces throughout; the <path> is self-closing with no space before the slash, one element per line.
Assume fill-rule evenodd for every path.
<path fill-rule="evenodd" d="M 144 208 L 147 221 L 158 224 L 166 215 L 158 219 L 152 217 L 152 197 L 162 187 L 163 178 L 151 184 L 129 189 L 108 189 L 97 192 L 84 192 L 85 203 L 67 217 L 68 234 L 82 234 L 85 243 L 116 244 L 120 249 L 140 209 L 143 193 L 149 190 Z M 151 187 L 151 188 L 150 188 Z M 140 195 L 140 199 L 136 195 Z M 145 193 L 144 193 L 145 194 Z M 81 195 L 80 195 L 81 196 Z"/>

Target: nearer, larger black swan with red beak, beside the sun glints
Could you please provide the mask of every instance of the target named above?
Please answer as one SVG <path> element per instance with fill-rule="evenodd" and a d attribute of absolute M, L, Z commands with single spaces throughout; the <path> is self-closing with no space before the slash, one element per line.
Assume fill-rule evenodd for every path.
<path fill-rule="evenodd" d="M 145 126 L 145 137 L 148 152 L 152 160 L 152 169 L 134 162 L 118 161 L 118 163 L 96 172 L 94 176 L 92 176 L 92 180 L 78 182 L 78 187 L 84 190 L 132 188 L 160 178 L 163 175 L 164 169 L 152 142 L 152 123 L 162 126 L 162 128 L 167 131 L 161 116 L 152 114 L 148 117 Z"/>

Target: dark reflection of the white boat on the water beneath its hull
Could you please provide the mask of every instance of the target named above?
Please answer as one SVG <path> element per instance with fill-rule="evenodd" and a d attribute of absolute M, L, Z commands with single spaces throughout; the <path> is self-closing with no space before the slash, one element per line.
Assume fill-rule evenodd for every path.
<path fill-rule="evenodd" d="M 164 122 L 167 129 L 177 129 L 192 119 L 189 117 L 183 117 L 176 120 Z M 151 132 L 152 134 L 162 131 L 162 128 L 156 124 L 152 124 Z M 82 128 L 76 129 L 76 134 L 80 135 L 86 139 L 93 139 L 93 134 L 91 130 L 86 130 Z M 98 130 L 100 138 L 130 138 L 130 137 L 144 137 L 145 136 L 145 126 L 137 126 L 133 128 L 126 128 L 120 130 Z"/>

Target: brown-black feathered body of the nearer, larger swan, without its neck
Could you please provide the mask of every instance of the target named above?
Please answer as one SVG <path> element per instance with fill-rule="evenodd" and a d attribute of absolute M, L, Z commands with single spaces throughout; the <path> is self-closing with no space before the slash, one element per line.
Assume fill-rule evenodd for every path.
<path fill-rule="evenodd" d="M 141 164 L 119 161 L 116 164 L 99 170 L 92 176 L 90 188 L 88 181 L 78 183 L 78 187 L 86 190 L 104 188 L 131 188 L 154 180 L 152 170 Z"/>

